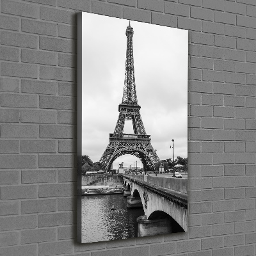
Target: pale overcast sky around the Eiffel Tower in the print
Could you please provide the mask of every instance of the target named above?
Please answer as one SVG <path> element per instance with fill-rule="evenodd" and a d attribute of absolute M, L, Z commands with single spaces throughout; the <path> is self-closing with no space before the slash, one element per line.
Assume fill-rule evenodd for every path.
<path fill-rule="evenodd" d="M 83 13 L 82 154 L 99 161 L 122 102 L 129 20 Z M 134 74 L 141 118 L 161 160 L 188 156 L 188 31 L 131 20 Z M 125 122 L 125 133 L 133 133 Z M 133 166 L 131 155 L 113 164 Z"/>

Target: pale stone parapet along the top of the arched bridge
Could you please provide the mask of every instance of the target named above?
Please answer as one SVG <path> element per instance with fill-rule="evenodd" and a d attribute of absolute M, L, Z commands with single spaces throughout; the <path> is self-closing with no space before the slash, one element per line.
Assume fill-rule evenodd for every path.
<path fill-rule="evenodd" d="M 123 176 L 130 177 L 132 179 L 148 182 L 149 184 L 153 184 L 162 188 L 172 189 L 181 193 L 187 194 L 187 179 L 178 179 L 173 177 L 155 177 L 155 176 L 147 176 L 147 175 L 133 175 L 133 174 L 123 174 Z"/>

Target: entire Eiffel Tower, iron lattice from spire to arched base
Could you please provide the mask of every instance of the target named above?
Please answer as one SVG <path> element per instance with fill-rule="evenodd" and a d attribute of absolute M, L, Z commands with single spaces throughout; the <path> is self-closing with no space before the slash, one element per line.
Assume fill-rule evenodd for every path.
<path fill-rule="evenodd" d="M 111 168 L 111 164 L 117 157 L 131 154 L 140 159 L 145 170 L 154 170 L 154 163 L 159 161 L 156 150 L 150 143 L 150 135 L 145 131 L 138 104 L 134 77 L 134 60 L 132 49 L 133 28 L 129 22 L 125 35 L 127 37 L 125 80 L 122 103 L 118 106 L 119 116 L 114 133 L 109 134 L 108 147 L 100 157 L 100 164 L 105 170 Z M 132 120 L 133 134 L 124 133 L 126 120 Z"/>

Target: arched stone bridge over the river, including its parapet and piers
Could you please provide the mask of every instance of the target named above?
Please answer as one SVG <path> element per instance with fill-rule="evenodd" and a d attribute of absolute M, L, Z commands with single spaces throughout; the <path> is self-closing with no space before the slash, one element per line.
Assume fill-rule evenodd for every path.
<path fill-rule="evenodd" d="M 188 230 L 187 179 L 123 174 L 127 207 L 143 207 L 138 236 Z"/>

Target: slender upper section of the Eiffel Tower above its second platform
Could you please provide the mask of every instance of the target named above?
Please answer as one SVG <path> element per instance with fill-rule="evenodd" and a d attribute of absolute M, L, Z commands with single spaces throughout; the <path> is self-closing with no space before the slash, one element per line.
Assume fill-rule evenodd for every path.
<path fill-rule="evenodd" d="M 125 35 L 127 37 L 126 61 L 125 61 L 125 79 L 124 79 L 124 93 L 122 104 L 138 106 L 136 95 L 135 77 L 134 77 L 134 60 L 132 49 L 133 28 L 129 20 Z"/>

